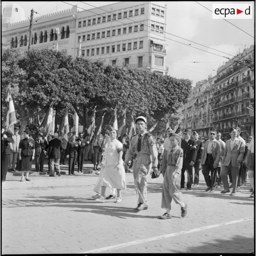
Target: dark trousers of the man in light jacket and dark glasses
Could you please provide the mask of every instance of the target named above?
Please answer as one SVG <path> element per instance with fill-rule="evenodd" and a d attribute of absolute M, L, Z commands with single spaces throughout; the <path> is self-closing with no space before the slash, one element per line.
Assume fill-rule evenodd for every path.
<path fill-rule="evenodd" d="M 213 168 L 214 160 L 211 154 L 207 154 L 205 164 L 203 165 L 202 173 L 205 177 L 206 186 L 213 189 L 216 184 L 217 168 Z M 211 172 L 211 176 L 210 176 Z"/>

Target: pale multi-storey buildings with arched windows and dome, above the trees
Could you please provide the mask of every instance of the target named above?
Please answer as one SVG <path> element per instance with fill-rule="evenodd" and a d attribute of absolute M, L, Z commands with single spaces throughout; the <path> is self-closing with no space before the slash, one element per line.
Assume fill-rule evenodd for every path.
<path fill-rule="evenodd" d="M 161 74 L 166 66 L 166 7 L 150 2 L 118 2 L 78 11 L 78 7 L 36 18 L 32 47 L 56 48 L 72 56 L 101 59 Z M 29 20 L 17 3 L 3 9 L 2 47 L 28 49 Z M 22 19 L 22 20 L 21 20 Z"/>

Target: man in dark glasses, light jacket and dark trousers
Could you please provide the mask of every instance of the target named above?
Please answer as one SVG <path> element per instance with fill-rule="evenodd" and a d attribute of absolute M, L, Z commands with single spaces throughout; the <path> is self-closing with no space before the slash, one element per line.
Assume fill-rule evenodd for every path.
<path fill-rule="evenodd" d="M 214 186 L 217 178 L 217 167 L 220 166 L 221 157 L 221 145 L 216 139 L 217 131 L 212 129 L 210 131 L 209 139 L 206 140 L 206 144 L 202 154 L 202 173 L 205 177 L 206 191 L 210 193 L 214 192 Z M 211 175 L 210 175 L 211 172 Z"/>

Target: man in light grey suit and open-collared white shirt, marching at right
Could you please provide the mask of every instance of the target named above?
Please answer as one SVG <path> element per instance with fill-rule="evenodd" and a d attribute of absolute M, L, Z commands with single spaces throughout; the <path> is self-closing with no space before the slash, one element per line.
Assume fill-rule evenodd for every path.
<path fill-rule="evenodd" d="M 231 173 L 233 191 L 230 195 L 235 195 L 239 168 L 245 153 L 245 143 L 237 138 L 237 130 L 235 128 L 230 128 L 229 132 L 231 139 L 226 141 L 224 150 L 223 172 L 221 175 L 224 190 L 221 193 L 226 194 L 230 192 L 228 188 L 228 173 Z"/>

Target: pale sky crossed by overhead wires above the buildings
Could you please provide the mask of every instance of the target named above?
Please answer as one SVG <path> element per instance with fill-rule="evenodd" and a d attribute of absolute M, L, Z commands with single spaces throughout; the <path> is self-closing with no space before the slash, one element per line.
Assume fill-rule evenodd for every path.
<path fill-rule="evenodd" d="M 4 7 L 7 3 L 10 2 L 2 1 L 2 6 Z M 79 7 L 86 10 L 93 8 L 81 1 L 67 1 L 69 4 L 61 1 L 17 1 L 17 3 L 22 6 L 27 18 L 30 17 L 30 10 L 32 8 L 42 15 L 55 12 L 56 10 L 70 9 L 72 6 L 69 4 L 78 4 Z M 115 2 L 89 1 L 87 3 L 100 7 Z M 254 13 L 252 19 L 228 19 L 229 22 L 238 27 L 236 28 L 223 19 L 213 19 L 211 11 L 206 10 L 206 8 L 212 10 L 212 4 L 220 2 L 152 1 L 152 3 L 161 6 L 167 5 L 166 43 L 168 75 L 175 78 L 188 78 L 193 81 L 193 86 L 195 86 L 196 82 L 207 79 L 209 75 L 214 76 L 217 68 L 228 61 L 225 57 L 232 58 L 254 44 Z M 221 1 L 221 3 L 253 4 L 252 11 L 254 12 L 253 1 Z M 189 44 L 190 46 L 188 46 Z M 209 47 L 215 50 L 211 50 Z"/>

